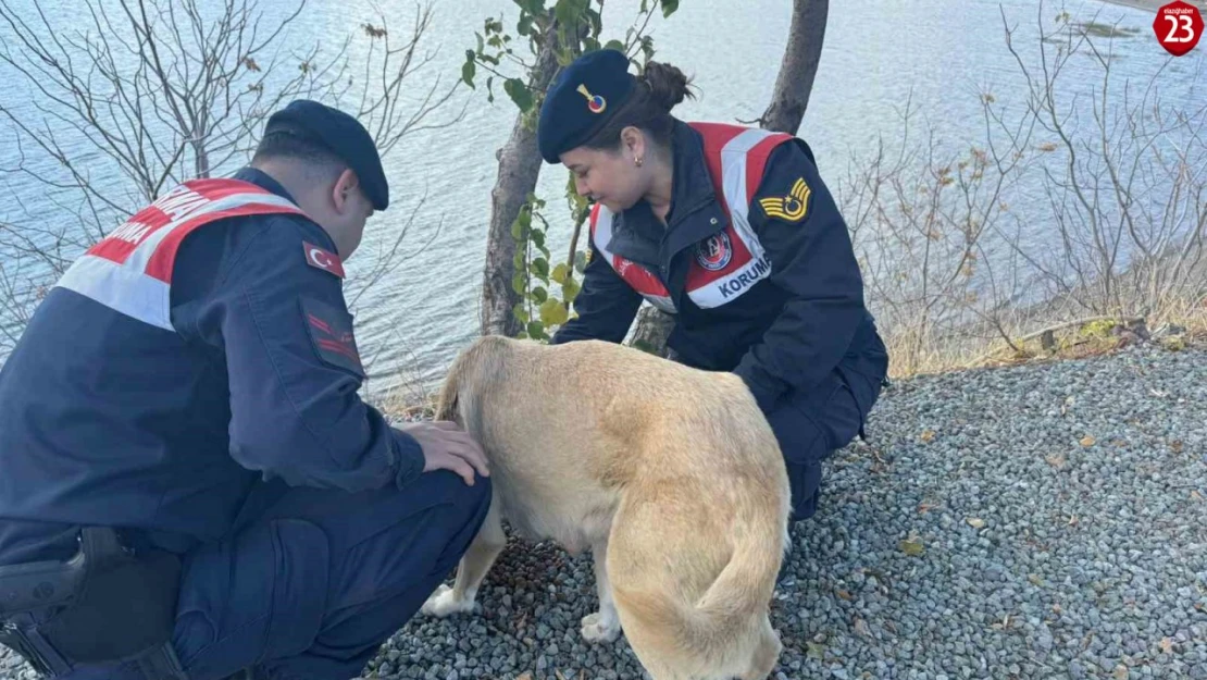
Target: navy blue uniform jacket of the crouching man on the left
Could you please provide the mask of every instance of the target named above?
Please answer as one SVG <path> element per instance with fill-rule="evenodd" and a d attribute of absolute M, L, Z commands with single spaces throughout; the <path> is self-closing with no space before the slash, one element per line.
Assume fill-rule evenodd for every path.
<path fill-rule="evenodd" d="M 258 170 L 235 179 L 288 198 Z M 65 557 L 82 523 L 182 552 L 227 533 L 263 478 L 418 477 L 418 442 L 357 395 L 343 279 L 303 243 L 336 250 L 295 215 L 198 228 L 175 260 L 175 332 L 49 291 L 0 371 L 0 564 Z"/>

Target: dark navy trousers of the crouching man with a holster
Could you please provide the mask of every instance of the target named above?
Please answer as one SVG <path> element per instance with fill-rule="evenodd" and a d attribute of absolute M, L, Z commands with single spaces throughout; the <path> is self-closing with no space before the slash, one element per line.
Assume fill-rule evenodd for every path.
<path fill-rule="evenodd" d="M 258 666 L 346 680 L 419 610 L 485 518 L 490 481 L 436 471 L 349 494 L 264 484 L 229 540 L 185 560 L 173 643 L 191 680 Z M 115 624 L 121 624 L 115 622 Z M 72 680 L 138 679 L 132 664 Z"/>

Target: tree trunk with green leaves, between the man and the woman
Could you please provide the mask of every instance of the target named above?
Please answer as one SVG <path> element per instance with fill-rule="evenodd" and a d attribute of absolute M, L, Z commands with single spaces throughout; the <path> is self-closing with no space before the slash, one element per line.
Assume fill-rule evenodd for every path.
<path fill-rule="evenodd" d="M 552 22 L 537 53 L 537 65 L 529 83 L 533 92 L 544 92 L 558 72 L 558 23 Z M 541 151 L 536 130 L 525 124 L 526 114 L 515 116 L 515 127 L 507 145 L 498 151 L 498 179 L 490 192 L 490 232 L 486 237 L 486 266 L 482 286 L 482 335 L 515 337 L 521 327 L 512 310 L 520 295 L 512 286 L 515 278 L 515 240 L 512 222 L 520 214 L 527 196 L 536 188 L 541 174 Z"/>

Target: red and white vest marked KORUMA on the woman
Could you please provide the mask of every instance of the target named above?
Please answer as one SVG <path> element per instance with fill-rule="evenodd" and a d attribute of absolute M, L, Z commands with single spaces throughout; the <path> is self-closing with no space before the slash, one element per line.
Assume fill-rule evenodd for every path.
<path fill-rule="evenodd" d="M 688 266 L 687 293 L 702 309 L 736 300 L 771 274 L 771 263 L 750 223 L 750 204 L 771 151 L 792 135 L 724 123 L 690 123 L 704 138 L 704 158 L 729 222 L 695 245 Z M 601 204 L 591 209 L 595 249 L 634 290 L 654 307 L 674 314 L 675 302 L 658 275 L 608 248 L 614 215 Z"/>

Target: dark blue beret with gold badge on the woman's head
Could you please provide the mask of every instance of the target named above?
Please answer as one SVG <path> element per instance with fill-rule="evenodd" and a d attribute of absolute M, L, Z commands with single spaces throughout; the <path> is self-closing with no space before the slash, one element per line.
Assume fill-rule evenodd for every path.
<path fill-rule="evenodd" d="M 616 50 L 595 50 L 558 74 L 544 95 L 536 139 L 541 156 L 558 156 L 597 133 L 636 88 L 629 58 Z"/>

